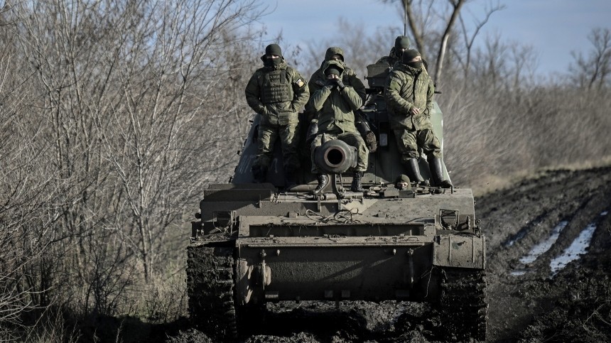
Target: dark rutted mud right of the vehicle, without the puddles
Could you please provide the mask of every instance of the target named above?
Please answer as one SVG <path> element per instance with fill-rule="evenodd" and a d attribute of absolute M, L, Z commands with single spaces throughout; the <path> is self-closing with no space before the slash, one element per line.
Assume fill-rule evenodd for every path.
<path fill-rule="evenodd" d="M 511 190 L 477 199 L 476 209 L 487 236 L 490 342 L 586 342 L 590 338 L 609 342 L 611 325 L 586 322 L 565 334 L 557 329 L 587 320 L 597 310 L 588 307 L 606 309 L 609 319 L 611 168 L 549 171 Z M 587 254 L 551 277 L 553 258 L 561 256 L 590 224 L 596 229 Z M 558 225 L 563 228 L 556 241 L 524 266 L 520 258 L 553 235 Z M 529 273 L 512 275 L 521 268 Z M 600 301 L 583 301 L 590 292 L 600 293 L 595 295 Z M 569 310 L 576 313 L 569 315 Z M 588 330 L 590 325 L 593 330 Z"/>

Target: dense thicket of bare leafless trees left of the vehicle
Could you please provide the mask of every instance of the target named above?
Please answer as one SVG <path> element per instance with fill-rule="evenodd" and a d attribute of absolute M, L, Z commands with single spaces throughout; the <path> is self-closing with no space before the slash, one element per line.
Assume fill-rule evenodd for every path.
<path fill-rule="evenodd" d="M 163 280 L 183 253 L 173 229 L 207 182 L 228 179 L 244 140 L 263 11 L 43 0 L 0 13 L 5 319 L 51 305 L 112 314 L 141 279 Z"/>

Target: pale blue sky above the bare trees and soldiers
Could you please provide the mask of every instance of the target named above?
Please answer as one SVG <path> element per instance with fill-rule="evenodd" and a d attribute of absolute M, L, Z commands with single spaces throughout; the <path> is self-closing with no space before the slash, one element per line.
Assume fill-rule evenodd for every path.
<path fill-rule="evenodd" d="M 397 26 L 403 28 L 396 5 L 380 0 L 268 0 L 274 12 L 263 18 L 270 38 L 280 31 L 291 45 L 325 36 L 338 18 L 363 23 L 372 30 Z M 483 16 L 487 4 L 506 8 L 492 14 L 478 36 L 499 33 L 503 40 L 532 45 L 538 53 L 539 74 L 565 72 L 571 50 L 584 53 L 590 48 L 588 33 L 595 27 L 611 28 L 611 0 L 474 0 L 465 5 L 465 19 Z M 480 11 L 480 12 L 478 12 Z M 326 38 L 326 36 L 325 36 Z M 392 42 L 390 42 L 392 43 Z M 390 45 L 389 45 L 390 46 Z"/>

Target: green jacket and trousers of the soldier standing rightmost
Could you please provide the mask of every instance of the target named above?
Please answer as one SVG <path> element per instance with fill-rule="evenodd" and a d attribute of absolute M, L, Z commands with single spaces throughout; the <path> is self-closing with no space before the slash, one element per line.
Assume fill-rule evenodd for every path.
<path fill-rule="evenodd" d="M 419 158 L 418 147 L 428 158 L 441 158 L 441 145 L 433 134 L 431 123 L 434 91 L 433 81 L 425 67 L 418 70 L 397 62 L 386 77 L 384 99 L 404 162 L 409 158 Z M 409 111 L 413 107 L 420 109 L 420 113 L 411 115 Z"/>

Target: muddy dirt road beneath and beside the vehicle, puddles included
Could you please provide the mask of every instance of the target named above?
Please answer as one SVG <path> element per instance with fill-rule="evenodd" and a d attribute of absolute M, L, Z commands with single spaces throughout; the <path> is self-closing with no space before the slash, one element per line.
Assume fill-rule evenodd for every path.
<path fill-rule="evenodd" d="M 488 342 L 611 342 L 611 168 L 554 170 L 476 199 Z M 284 306 L 284 307 L 283 307 Z M 445 342 L 417 303 L 269 307 L 242 342 Z M 168 342 L 211 342 L 190 330 Z"/>

